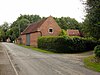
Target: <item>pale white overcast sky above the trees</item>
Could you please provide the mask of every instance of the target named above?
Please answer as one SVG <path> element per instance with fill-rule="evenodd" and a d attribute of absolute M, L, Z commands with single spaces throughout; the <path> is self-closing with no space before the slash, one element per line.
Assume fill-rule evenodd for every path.
<path fill-rule="evenodd" d="M 81 22 L 84 7 L 80 0 L 0 0 L 0 24 L 12 23 L 20 14 L 71 17 Z"/>

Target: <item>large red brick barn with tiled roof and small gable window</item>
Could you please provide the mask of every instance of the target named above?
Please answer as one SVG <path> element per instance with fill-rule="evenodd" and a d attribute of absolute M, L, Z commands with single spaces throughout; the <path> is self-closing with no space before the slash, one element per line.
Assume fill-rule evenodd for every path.
<path fill-rule="evenodd" d="M 21 41 L 24 45 L 32 45 L 37 47 L 37 39 L 39 36 L 58 36 L 61 28 L 58 26 L 52 16 L 45 18 L 37 23 L 29 25 L 21 33 Z"/>

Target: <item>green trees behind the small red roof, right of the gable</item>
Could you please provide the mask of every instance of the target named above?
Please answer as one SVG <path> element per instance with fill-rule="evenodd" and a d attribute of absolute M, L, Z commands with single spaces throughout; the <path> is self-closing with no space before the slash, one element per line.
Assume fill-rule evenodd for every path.
<path fill-rule="evenodd" d="M 70 17 L 61 17 L 61 18 L 54 18 L 58 25 L 64 29 L 80 29 L 80 23 L 78 23 L 74 18 Z"/>

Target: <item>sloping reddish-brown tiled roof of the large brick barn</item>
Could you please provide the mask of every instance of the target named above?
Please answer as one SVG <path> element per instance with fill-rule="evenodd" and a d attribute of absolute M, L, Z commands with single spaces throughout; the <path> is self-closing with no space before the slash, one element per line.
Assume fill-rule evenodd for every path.
<path fill-rule="evenodd" d="M 47 18 L 37 22 L 30 24 L 21 34 L 27 34 L 38 31 L 38 28 L 46 21 Z"/>

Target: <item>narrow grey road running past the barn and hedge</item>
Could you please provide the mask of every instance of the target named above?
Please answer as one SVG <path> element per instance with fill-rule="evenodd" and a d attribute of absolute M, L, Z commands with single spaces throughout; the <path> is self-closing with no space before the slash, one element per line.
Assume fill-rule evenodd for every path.
<path fill-rule="evenodd" d="M 80 56 L 74 54 L 45 54 L 2 43 L 19 75 L 100 75 L 86 69 Z"/>

